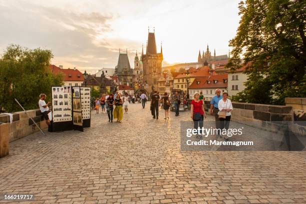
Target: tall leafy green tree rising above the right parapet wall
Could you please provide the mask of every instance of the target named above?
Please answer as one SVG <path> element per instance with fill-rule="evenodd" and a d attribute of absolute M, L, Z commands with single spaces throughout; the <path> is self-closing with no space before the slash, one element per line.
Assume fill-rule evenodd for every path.
<path fill-rule="evenodd" d="M 245 0 L 226 67 L 246 69 L 246 88 L 235 98 L 255 103 L 283 104 L 284 97 L 306 95 L 306 1 Z"/>

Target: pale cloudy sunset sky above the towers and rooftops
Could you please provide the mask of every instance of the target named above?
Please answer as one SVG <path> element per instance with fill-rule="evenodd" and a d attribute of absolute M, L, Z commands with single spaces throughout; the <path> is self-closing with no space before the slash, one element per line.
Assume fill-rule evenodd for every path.
<path fill-rule="evenodd" d="M 228 53 L 239 0 L 0 0 L 0 53 L 8 44 L 52 50 L 52 64 L 95 73 L 114 68 L 119 47 L 133 67 L 155 27 L 163 65 L 197 61 L 198 50 Z"/>

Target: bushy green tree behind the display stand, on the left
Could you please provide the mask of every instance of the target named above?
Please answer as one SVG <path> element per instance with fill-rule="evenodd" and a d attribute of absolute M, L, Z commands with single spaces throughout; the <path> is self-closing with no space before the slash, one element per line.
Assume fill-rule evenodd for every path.
<path fill-rule="evenodd" d="M 50 100 L 51 85 L 62 85 L 62 74 L 53 74 L 48 68 L 52 52 L 47 49 L 28 49 L 9 45 L 0 56 L 0 111 L 38 108 L 40 93 Z"/>

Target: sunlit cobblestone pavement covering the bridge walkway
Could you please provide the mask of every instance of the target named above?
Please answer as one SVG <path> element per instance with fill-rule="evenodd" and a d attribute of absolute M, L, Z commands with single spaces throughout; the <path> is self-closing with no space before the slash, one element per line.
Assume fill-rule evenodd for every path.
<path fill-rule="evenodd" d="M 163 117 L 131 104 L 122 123 L 93 111 L 84 132 L 14 141 L 0 192 L 33 193 L 24 203 L 306 203 L 305 152 L 180 151 L 189 112 Z"/>

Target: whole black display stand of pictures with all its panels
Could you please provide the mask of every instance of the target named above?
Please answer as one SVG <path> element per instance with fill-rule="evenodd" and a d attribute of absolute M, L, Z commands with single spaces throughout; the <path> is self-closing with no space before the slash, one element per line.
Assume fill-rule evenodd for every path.
<path fill-rule="evenodd" d="M 50 131 L 90 127 L 90 87 L 52 86 Z"/>

